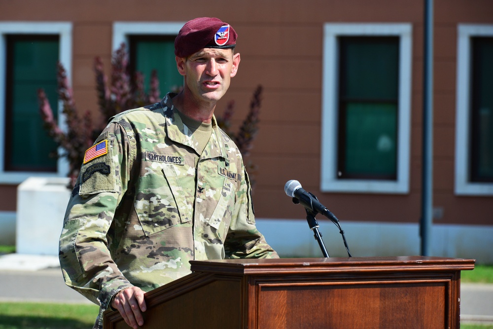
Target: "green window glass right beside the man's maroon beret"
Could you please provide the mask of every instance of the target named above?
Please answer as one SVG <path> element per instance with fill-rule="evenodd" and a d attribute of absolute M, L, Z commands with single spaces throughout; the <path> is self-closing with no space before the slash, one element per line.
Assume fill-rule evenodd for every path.
<path fill-rule="evenodd" d="M 183 77 L 176 69 L 176 36 L 129 36 L 130 70 L 144 75 L 145 91 L 149 90 L 150 76 L 157 71 L 159 89 L 164 97 L 183 85 Z"/>

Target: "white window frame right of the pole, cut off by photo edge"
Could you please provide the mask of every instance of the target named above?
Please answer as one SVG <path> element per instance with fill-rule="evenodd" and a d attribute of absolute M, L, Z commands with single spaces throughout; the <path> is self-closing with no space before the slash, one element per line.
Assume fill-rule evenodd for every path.
<path fill-rule="evenodd" d="M 493 37 L 493 25 L 458 25 L 455 161 L 455 193 L 457 195 L 493 195 L 493 183 L 469 181 L 471 37 L 481 36 Z"/>

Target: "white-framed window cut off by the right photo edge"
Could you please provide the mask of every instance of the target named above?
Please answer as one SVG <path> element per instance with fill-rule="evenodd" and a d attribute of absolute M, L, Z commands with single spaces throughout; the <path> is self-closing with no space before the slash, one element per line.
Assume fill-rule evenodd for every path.
<path fill-rule="evenodd" d="M 458 26 L 457 194 L 493 195 L 493 26 Z"/>

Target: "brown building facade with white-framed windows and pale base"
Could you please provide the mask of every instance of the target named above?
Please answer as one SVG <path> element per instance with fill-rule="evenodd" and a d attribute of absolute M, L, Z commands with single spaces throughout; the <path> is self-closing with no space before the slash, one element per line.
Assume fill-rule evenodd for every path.
<path fill-rule="evenodd" d="M 235 100 L 239 126 L 263 87 L 247 160 L 267 240 L 285 256 L 321 255 L 283 192 L 294 179 L 338 217 L 353 256 L 419 254 L 424 1 L 0 0 L 0 224 L 15 225 L 19 183 L 66 175 L 37 124 L 35 90 L 54 93 L 55 63 L 77 109 L 98 115 L 96 56 L 109 73 L 123 42 L 135 70 L 168 63 L 159 74 L 171 89 L 173 39 L 199 16 L 239 35 L 239 73 L 217 111 Z M 493 3 L 435 0 L 433 35 L 432 254 L 493 262 Z M 330 256 L 345 256 L 339 230 L 318 220 Z"/>

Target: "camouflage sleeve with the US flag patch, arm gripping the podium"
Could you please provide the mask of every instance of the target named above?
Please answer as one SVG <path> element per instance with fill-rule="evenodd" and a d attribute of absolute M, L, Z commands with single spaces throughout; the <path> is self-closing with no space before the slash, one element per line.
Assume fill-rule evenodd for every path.
<path fill-rule="evenodd" d="M 95 143 L 100 150 L 86 152 L 89 160 L 82 164 L 60 236 L 66 284 L 103 308 L 110 306 L 116 292 L 132 286 L 112 259 L 107 234 L 127 190 L 135 155 L 127 133 L 122 125 L 110 123 Z M 101 143 L 106 143 L 106 153 Z"/>

